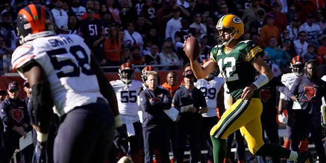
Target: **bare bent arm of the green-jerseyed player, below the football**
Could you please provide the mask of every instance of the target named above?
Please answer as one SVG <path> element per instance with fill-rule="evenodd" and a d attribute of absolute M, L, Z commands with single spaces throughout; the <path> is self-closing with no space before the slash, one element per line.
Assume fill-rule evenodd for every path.
<path fill-rule="evenodd" d="M 190 61 L 190 64 L 192 66 L 193 72 L 195 74 L 195 76 L 200 79 L 200 78 L 204 78 L 205 76 L 207 76 L 208 74 L 210 74 L 211 72 L 215 71 L 216 68 L 218 68 L 218 66 L 216 65 L 216 63 L 214 61 L 207 61 L 203 66 L 201 66 L 197 60 L 195 61 Z"/>

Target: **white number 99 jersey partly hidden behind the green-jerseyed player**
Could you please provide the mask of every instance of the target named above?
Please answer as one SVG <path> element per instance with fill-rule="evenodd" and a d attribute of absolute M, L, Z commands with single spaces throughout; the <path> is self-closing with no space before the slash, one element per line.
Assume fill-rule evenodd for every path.
<path fill-rule="evenodd" d="M 195 87 L 204 93 L 207 103 L 207 113 L 203 113 L 203 117 L 216 116 L 216 107 L 218 107 L 218 93 L 224 85 L 224 78 L 214 77 L 212 80 L 198 79 Z"/>

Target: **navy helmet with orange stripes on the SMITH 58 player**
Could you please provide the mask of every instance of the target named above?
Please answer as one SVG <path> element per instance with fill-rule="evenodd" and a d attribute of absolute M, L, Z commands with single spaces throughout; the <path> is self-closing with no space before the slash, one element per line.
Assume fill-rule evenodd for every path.
<path fill-rule="evenodd" d="M 21 44 L 39 37 L 55 35 L 54 26 L 51 12 L 41 5 L 28 5 L 17 14 L 17 35 Z"/>

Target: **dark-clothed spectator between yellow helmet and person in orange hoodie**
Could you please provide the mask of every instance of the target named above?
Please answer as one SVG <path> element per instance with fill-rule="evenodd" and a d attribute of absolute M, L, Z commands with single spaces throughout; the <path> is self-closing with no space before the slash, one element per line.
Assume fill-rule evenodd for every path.
<path fill-rule="evenodd" d="M 263 9 L 259 9 L 257 11 L 257 19 L 253 20 L 249 23 L 249 30 L 251 35 L 260 35 L 260 30 L 262 26 L 266 24 L 264 21 L 265 11 Z"/>

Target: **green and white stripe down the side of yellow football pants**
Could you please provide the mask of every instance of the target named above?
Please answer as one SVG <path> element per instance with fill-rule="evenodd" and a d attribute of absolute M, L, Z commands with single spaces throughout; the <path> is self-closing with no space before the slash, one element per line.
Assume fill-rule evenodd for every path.
<path fill-rule="evenodd" d="M 242 100 L 235 110 L 226 118 L 221 126 L 215 131 L 215 138 L 221 138 L 226 130 L 236 121 L 249 106 L 250 100 Z"/>

